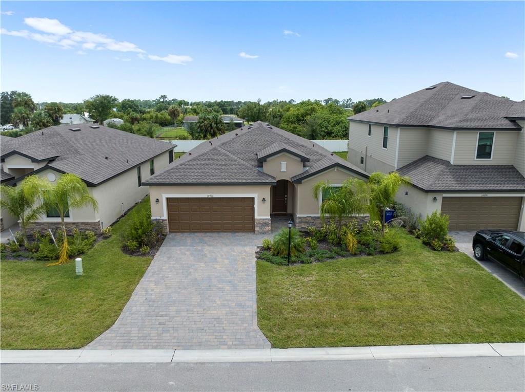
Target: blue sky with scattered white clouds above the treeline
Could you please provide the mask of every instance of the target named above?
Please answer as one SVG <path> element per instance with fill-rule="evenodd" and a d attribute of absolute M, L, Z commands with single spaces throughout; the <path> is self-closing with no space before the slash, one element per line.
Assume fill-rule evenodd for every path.
<path fill-rule="evenodd" d="M 524 13 L 523 2 L 3 1 L 1 83 L 63 102 L 391 100 L 442 81 L 523 100 Z"/>

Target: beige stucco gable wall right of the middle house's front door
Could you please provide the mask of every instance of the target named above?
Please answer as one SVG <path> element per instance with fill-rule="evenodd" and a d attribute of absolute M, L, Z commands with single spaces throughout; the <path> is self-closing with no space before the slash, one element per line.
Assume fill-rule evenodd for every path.
<path fill-rule="evenodd" d="M 332 184 L 341 184 L 344 180 L 351 177 L 356 177 L 365 180 L 364 178 L 358 175 L 354 175 L 348 171 L 341 170 L 340 168 L 333 168 L 321 173 L 320 175 L 313 176 L 307 180 L 304 180 L 302 183 L 296 184 L 296 214 L 299 216 L 319 216 L 319 199 L 314 198 L 312 194 L 312 188 L 319 181 L 328 180 Z"/>

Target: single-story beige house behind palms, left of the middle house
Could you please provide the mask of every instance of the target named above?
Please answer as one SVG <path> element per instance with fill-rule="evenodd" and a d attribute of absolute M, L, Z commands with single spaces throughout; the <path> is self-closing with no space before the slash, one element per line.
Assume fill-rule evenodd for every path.
<path fill-rule="evenodd" d="M 16 186 L 26 176 L 37 174 L 56 183 L 62 173 L 73 173 L 89 187 L 98 201 L 98 211 L 72 209 L 68 227 L 99 232 L 149 193 L 142 181 L 173 161 L 173 145 L 92 124 L 59 125 L 1 139 L 2 183 Z M 16 219 L 2 212 L 5 228 Z M 52 212 L 35 223 L 39 229 L 58 225 Z"/>

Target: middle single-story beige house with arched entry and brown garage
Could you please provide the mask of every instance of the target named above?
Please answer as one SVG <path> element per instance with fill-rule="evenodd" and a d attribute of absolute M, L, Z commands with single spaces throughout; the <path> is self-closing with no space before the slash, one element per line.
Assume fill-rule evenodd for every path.
<path fill-rule="evenodd" d="M 364 170 L 327 149 L 256 122 L 204 141 L 143 183 L 152 219 L 170 232 L 269 233 L 271 214 L 292 214 L 296 226 L 321 226 L 313 186 L 367 179 Z"/>

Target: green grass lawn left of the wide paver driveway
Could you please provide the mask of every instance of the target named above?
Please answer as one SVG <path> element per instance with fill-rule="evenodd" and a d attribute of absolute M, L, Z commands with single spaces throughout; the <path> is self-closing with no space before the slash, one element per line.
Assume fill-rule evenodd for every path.
<path fill-rule="evenodd" d="M 149 209 L 149 200 L 135 208 Z M 113 325 L 151 262 L 121 252 L 128 217 L 82 256 L 80 277 L 74 261 L 46 267 L 48 262 L 2 260 L 2 349 L 75 349 Z"/>

